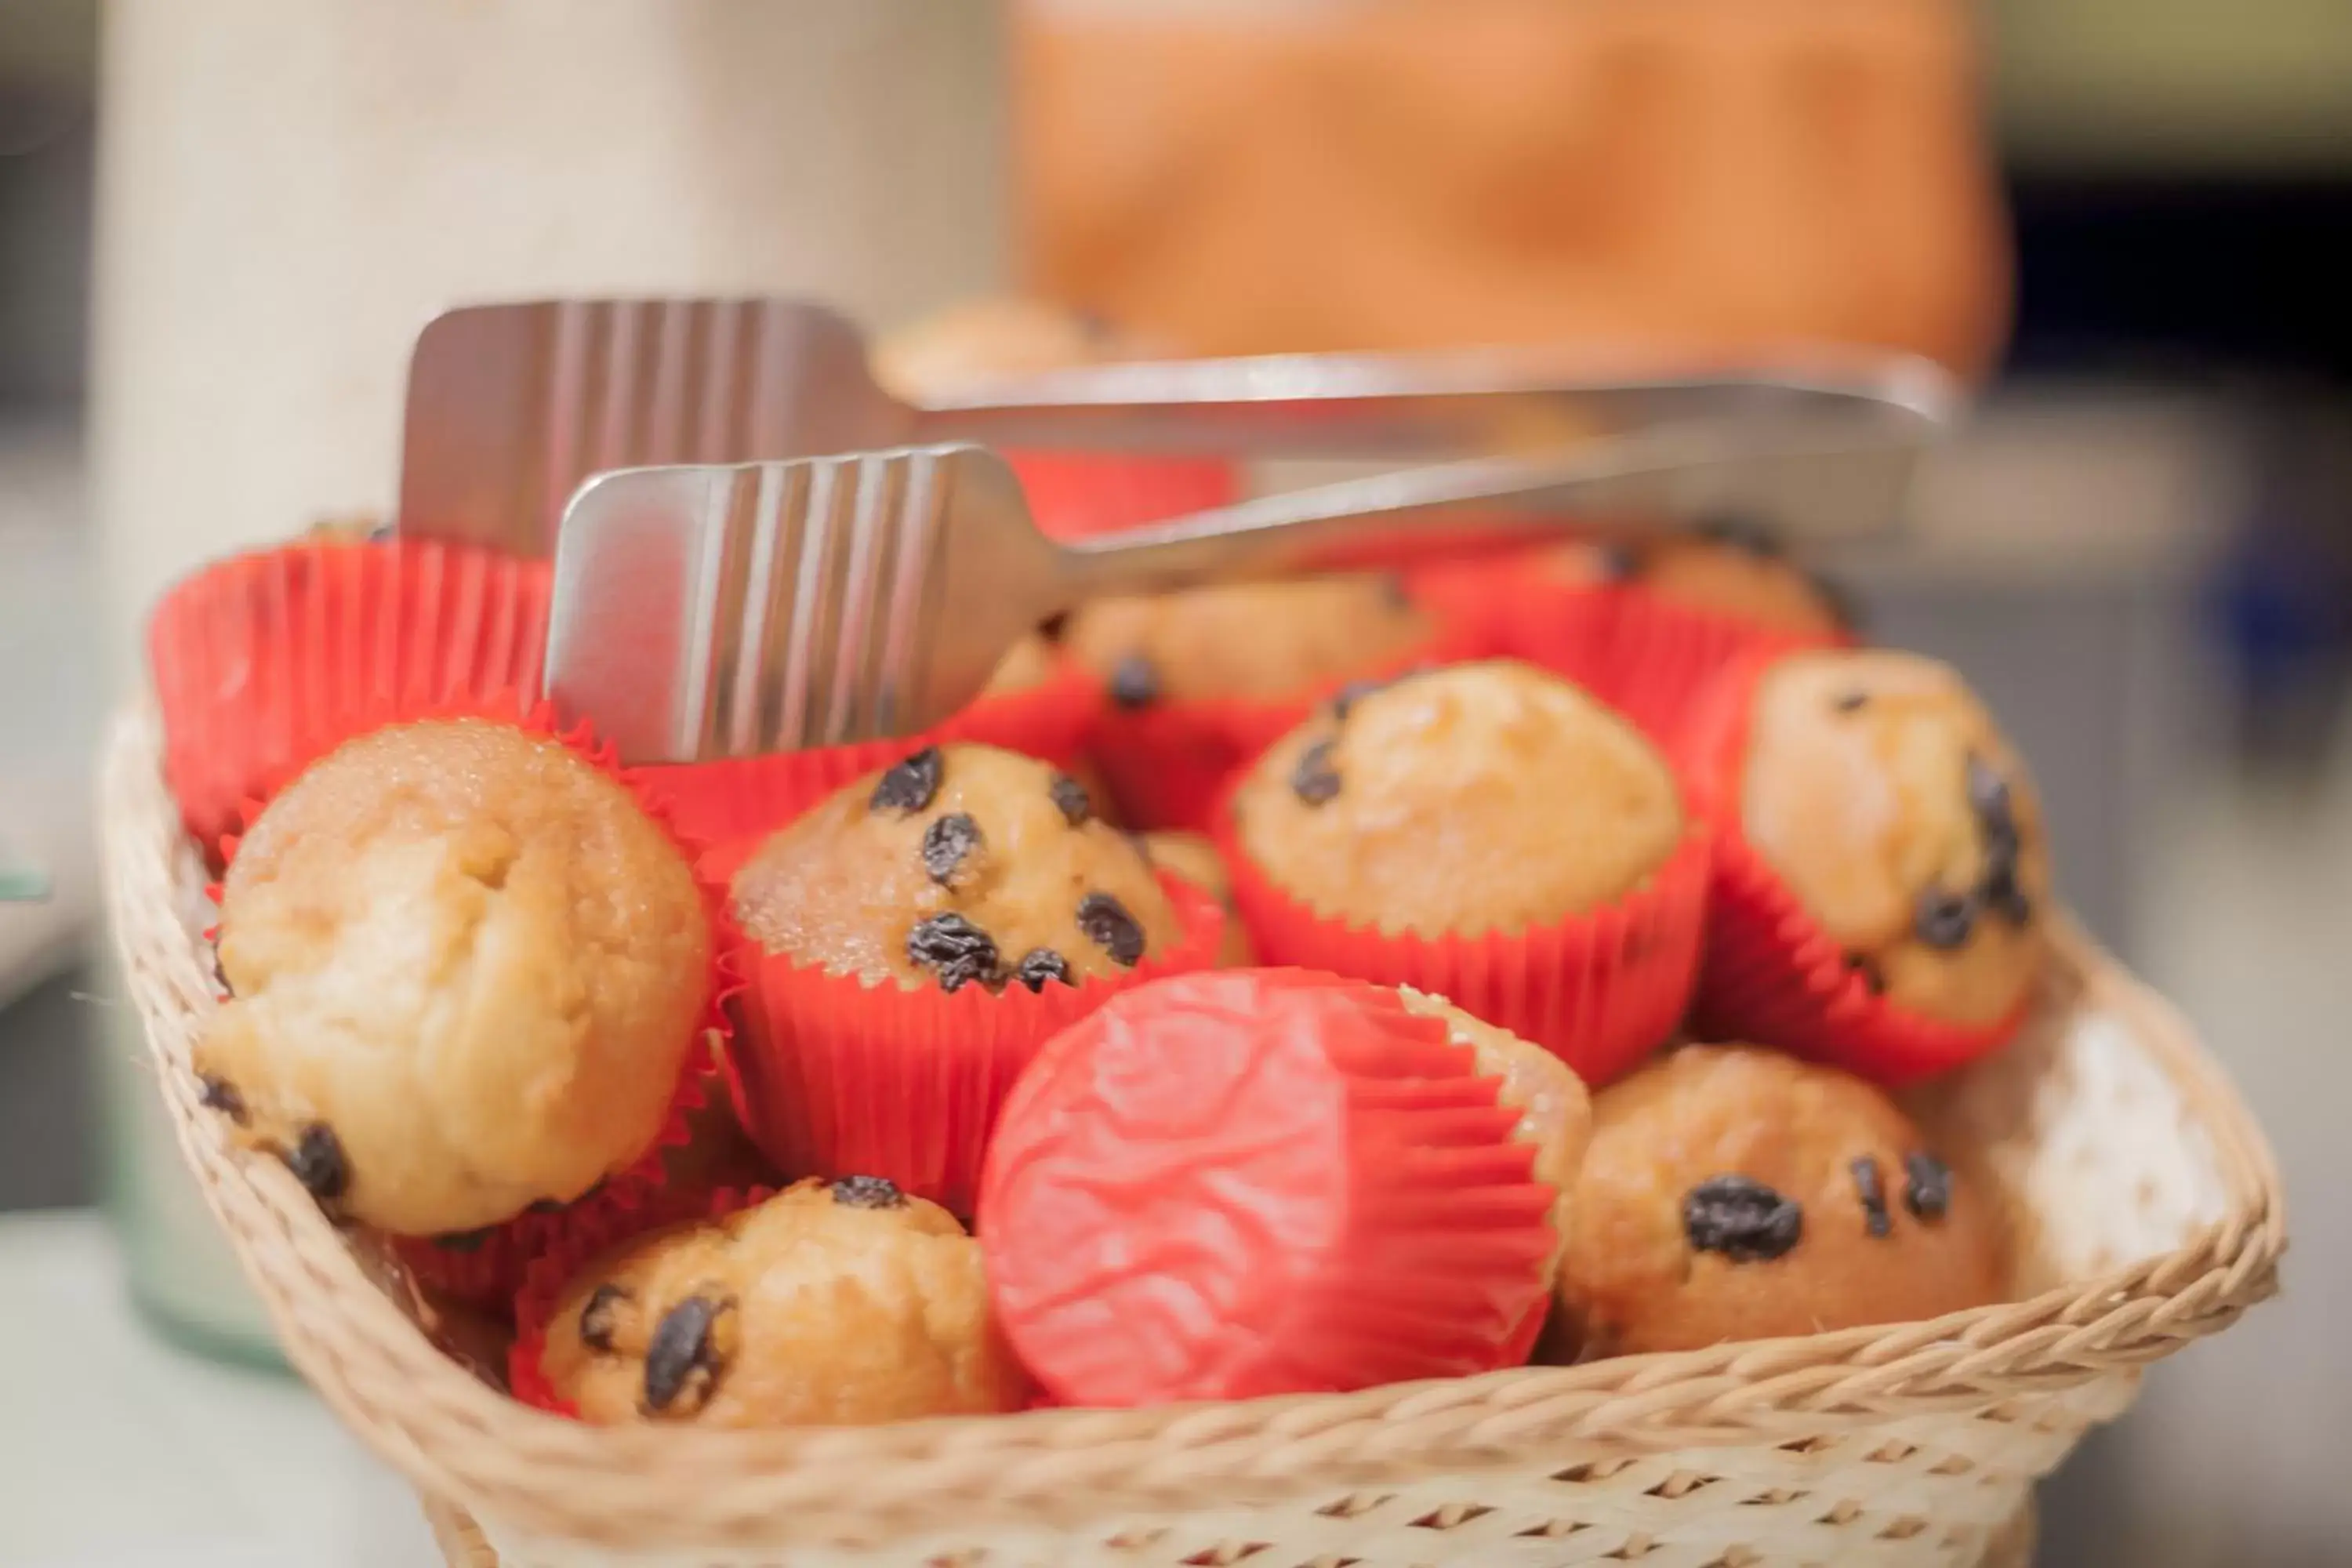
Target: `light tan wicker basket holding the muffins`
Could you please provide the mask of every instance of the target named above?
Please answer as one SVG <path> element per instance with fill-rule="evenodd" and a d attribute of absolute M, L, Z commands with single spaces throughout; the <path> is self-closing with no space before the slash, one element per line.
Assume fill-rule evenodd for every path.
<path fill-rule="evenodd" d="M 1362 1394 L 875 1429 L 597 1429 L 435 1349 L 381 1260 L 198 1107 L 202 867 L 151 712 L 103 769 L 108 900 L 181 1150 L 287 1354 L 452 1563 L 2025 1561 L 2030 1493 L 2286 1244 L 2272 1157 L 2180 1020 L 2079 936 L 2034 1027 L 1922 1098 L 2020 1220 L 2023 1298 L 1933 1324 Z"/>

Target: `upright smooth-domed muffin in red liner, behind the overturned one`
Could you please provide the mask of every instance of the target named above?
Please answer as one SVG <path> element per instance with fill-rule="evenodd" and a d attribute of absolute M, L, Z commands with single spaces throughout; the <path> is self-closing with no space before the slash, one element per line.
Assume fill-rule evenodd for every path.
<path fill-rule="evenodd" d="M 1263 961 L 1442 994 L 1588 1084 L 1691 997 L 1708 835 L 1639 731 L 1531 665 L 1343 689 L 1216 830 Z"/>

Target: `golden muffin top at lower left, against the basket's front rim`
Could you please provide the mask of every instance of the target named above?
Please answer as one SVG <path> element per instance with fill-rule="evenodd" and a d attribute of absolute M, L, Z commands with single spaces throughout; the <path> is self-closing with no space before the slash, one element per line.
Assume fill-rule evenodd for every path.
<path fill-rule="evenodd" d="M 604 1425 L 863 1427 L 1023 1399 L 978 1244 L 880 1175 L 607 1253 L 564 1288 L 539 1366 Z"/>

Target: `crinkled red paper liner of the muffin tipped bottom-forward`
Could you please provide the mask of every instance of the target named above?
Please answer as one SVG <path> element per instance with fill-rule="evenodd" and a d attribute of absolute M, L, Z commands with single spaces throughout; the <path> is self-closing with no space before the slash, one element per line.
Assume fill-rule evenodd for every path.
<path fill-rule="evenodd" d="M 1392 990 L 1228 971 L 1134 992 L 1056 1037 L 1004 1110 L 981 1199 L 997 1316 L 1089 1406 L 1510 1366 L 1555 1241 L 1512 1121 Z"/>

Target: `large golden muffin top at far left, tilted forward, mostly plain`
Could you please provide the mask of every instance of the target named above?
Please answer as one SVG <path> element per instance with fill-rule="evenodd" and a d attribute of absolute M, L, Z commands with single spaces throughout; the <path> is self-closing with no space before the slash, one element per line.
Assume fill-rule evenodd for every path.
<path fill-rule="evenodd" d="M 654 1143 L 713 933 L 687 858 L 546 736 L 400 724 L 301 773 L 221 889 L 207 1095 L 409 1237 L 569 1201 Z"/>

